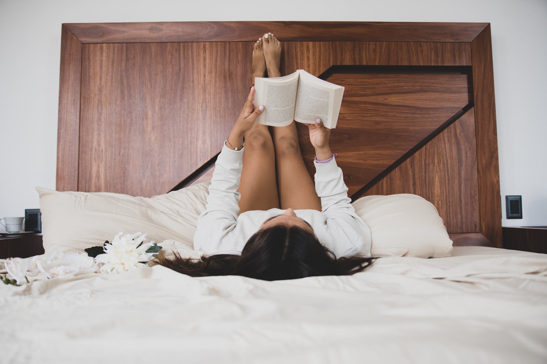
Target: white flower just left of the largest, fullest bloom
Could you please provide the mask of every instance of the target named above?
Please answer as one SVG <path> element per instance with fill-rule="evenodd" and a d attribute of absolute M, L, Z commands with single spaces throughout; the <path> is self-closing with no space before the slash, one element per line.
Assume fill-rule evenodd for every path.
<path fill-rule="evenodd" d="M 77 273 L 93 273 L 98 272 L 99 269 L 93 258 L 85 253 L 63 253 L 57 249 L 52 249 L 44 255 L 35 256 L 33 265 L 48 278 L 70 277 Z"/>

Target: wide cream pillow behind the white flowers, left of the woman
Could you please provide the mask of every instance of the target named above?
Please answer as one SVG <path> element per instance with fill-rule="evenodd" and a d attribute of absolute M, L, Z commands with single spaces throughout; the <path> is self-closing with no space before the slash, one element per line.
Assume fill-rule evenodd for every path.
<path fill-rule="evenodd" d="M 112 241 L 119 232 L 147 234 L 147 241 L 176 250 L 193 249 L 198 216 L 205 210 L 210 181 L 154 197 L 107 192 L 58 192 L 36 187 L 40 195 L 43 244 L 46 253 L 83 251 Z M 176 240 L 173 242 L 172 240 Z M 167 248 L 167 246 L 164 246 Z"/>

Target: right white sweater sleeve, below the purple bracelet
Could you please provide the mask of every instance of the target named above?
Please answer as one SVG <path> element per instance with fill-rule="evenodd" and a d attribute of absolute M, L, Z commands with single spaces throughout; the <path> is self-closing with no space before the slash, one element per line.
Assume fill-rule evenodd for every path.
<path fill-rule="evenodd" d="M 336 160 L 313 162 L 316 167 L 315 188 L 321 198 L 321 209 L 327 218 L 329 249 L 336 257 L 356 254 L 370 256 L 371 234 L 368 225 L 355 212 L 347 196 L 342 169 Z"/>

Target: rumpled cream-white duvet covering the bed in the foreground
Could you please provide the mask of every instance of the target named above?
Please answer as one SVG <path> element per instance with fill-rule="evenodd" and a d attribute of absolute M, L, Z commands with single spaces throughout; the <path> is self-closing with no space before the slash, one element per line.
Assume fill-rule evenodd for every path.
<path fill-rule="evenodd" d="M 547 362 L 547 255 L 479 246 L 274 282 L 86 274 L 0 304 L 2 363 Z"/>

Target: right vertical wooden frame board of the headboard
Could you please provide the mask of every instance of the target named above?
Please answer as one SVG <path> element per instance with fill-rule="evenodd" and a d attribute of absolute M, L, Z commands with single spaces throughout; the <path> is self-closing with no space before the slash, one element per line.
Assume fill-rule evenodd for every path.
<path fill-rule="evenodd" d="M 480 232 L 502 248 L 498 139 L 490 25 L 471 43 L 479 176 Z"/>

